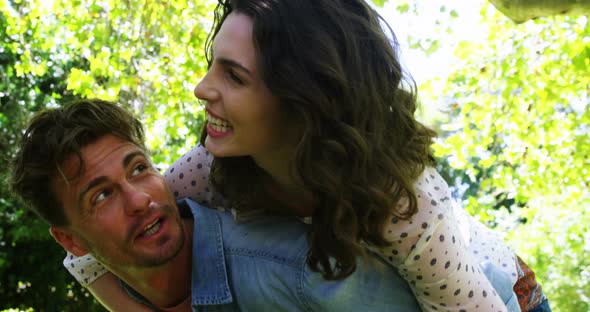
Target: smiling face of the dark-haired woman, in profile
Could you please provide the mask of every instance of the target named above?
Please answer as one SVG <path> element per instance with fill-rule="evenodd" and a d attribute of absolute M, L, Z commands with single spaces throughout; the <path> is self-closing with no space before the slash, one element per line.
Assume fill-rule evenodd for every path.
<path fill-rule="evenodd" d="M 288 139 L 290 123 L 258 72 L 252 27 L 252 19 L 240 13 L 225 19 L 213 41 L 213 62 L 195 96 L 206 102 L 209 152 L 252 156 L 259 163 L 292 152 L 294 144 Z"/>

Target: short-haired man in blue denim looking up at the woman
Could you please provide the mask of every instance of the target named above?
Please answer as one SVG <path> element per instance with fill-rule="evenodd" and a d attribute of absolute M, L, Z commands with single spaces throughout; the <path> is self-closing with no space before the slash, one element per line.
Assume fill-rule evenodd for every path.
<path fill-rule="evenodd" d="M 81 100 L 37 115 L 11 185 L 76 256 L 91 252 L 157 310 L 418 311 L 379 260 L 326 281 L 306 265 L 305 225 L 178 204 L 153 168 L 141 123 L 121 107 Z"/>

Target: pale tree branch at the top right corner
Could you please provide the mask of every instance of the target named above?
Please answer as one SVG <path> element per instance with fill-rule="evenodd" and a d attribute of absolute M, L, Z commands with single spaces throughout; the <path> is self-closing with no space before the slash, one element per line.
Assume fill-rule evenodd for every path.
<path fill-rule="evenodd" d="M 590 0 L 490 0 L 516 23 L 558 14 L 590 15 Z"/>

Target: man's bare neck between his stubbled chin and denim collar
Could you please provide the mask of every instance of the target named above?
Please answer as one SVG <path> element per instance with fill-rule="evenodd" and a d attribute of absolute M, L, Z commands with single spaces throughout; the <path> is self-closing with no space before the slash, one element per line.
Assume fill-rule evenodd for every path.
<path fill-rule="evenodd" d="M 183 220 L 184 245 L 170 262 L 155 269 L 118 275 L 153 305 L 174 307 L 191 295 L 193 220 Z"/>

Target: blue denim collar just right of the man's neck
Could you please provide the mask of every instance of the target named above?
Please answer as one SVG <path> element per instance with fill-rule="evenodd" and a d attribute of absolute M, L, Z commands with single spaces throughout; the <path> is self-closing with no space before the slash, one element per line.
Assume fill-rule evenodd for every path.
<path fill-rule="evenodd" d="M 232 303 L 223 251 L 221 220 L 217 212 L 190 199 L 178 202 L 193 214 L 192 303 L 219 305 Z"/>

